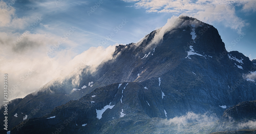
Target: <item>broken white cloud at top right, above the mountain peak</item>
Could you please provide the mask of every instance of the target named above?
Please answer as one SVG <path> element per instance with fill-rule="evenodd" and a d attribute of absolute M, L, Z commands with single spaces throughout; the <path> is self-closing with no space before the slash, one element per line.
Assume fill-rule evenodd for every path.
<path fill-rule="evenodd" d="M 254 0 L 123 0 L 135 2 L 137 8 L 145 8 L 146 12 L 174 13 L 195 17 L 206 23 L 221 22 L 226 27 L 241 32 L 247 23 L 236 15 L 235 6 L 242 6 L 243 11 L 255 11 Z"/>

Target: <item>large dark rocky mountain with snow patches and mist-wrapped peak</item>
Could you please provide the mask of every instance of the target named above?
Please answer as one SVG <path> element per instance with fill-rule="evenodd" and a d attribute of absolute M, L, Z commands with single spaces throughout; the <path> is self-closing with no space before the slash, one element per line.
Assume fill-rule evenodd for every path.
<path fill-rule="evenodd" d="M 11 116 L 31 115 L 11 117 L 11 133 L 222 130 L 218 123 L 227 108 L 256 100 L 255 62 L 227 52 L 214 26 L 180 16 L 138 43 L 116 46 L 111 60 L 11 102 Z"/>

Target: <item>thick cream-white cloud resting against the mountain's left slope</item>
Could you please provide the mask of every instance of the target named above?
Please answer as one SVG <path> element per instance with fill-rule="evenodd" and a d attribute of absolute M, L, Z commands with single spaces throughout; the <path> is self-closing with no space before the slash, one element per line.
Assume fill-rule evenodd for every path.
<path fill-rule="evenodd" d="M 77 44 L 67 39 L 48 56 L 46 52 L 60 39 L 54 34 L 0 32 L 0 75 L 8 74 L 8 87 L 13 88 L 13 92 L 9 92 L 10 100 L 37 91 L 60 73 L 67 76 L 81 64 L 99 64 L 103 59 L 110 59 L 115 50 L 115 46 L 91 47 L 78 54 L 73 50 Z M 74 84 L 78 82 L 74 81 Z"/>

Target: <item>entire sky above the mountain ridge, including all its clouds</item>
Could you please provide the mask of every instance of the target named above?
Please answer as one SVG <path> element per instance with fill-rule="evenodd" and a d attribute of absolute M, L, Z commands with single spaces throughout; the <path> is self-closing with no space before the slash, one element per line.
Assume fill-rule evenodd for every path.
<path fill-rule="evenodd" d="M 213 25 L 226 48 L 231 46 L 228 51 L 256 59 L 255 0 L 4 0 L 0 8 L 0 70 L 13 72 L 11 83 L 22 82 L 14 98 L 35 91 L 71 63 L 100 63 L 114 46 L 136 43 L 172 16 Z"/>

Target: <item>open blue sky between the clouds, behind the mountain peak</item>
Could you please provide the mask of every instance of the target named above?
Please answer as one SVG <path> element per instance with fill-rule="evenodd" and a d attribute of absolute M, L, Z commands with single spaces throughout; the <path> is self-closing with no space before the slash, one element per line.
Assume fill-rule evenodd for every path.
<path fill-rule="evenodd" d="M 12 1 L 6 1 L 7 4 L 11 2 Z M 76 32 L 74 32 L 74 34 L 72 34 L 68 39 L 73 41 L 73 43 L 75 44 L 73 46 L 61 45 L 59 47 L 59 50 L 66 49 L 66 47 L 68 47 L 73 48 L 74 50 L 76 50 L 75 52 L 79 54 L 92 46 L 98 47 L 99 44 L 106 38 L 106 36 L 110 35 L 110 33 L 114 33 L 114 36 L 111 38 L 110 41 L 107 41 L 106 44 L 103 45 L 104 47 L 113 45 L 115 43 L 128 44 L 131 42 L 137 42 L 139 39 L 144 37 L 146 34 L 152 32 L 154 29 L 162 27 L 167 22 L 167 19 L 172 17 L 173 15 L 179 16 L 180 14 L 191 14 L 191 17 L 196 17 L 200 15 L 196 13 L 201 11 L 198 10 L 195 12 L 188 12 L 187 10 L 181 10 L 180 12 L 171 13 L 169 13 L 168 11 L 159 12 L 166 8 L 165 3 L 163 3 L 162 5 L 157 5 L 157 7 L 145 7 L 147 6 L 147 4 L 145 3 L 144 5 L 142 4 L 141 6 L 138 6 L 140 2 L 141 1 L 138 0 L 103 0 L 100 4 L 99 0 L 16 1 L 14 4 L 12 4 L 12 7 L 15 9 L 15 13 L 12 15 L 12 17 L 24 18 L 24 24 L 22 28 L 11 28 L 13 30 L 10 32 L 18 32 L 21 34 L 27 30 L 31 34 L 38 33 L 62 36 L 66 33 L 65 29 L 68 30 L 69 27 L 74 27 L 76 29 Z M 195 2 L 196 1 L 194 1 L 194 3 Z M 95 5 L 95 3 L 99 3 L 99 7 Z M 225 5 L 225 3 L 223 4 L 220 2 L 220 4 L 225 6 L 233 6 L 233 8 L 235 8 L 235 12 L 232 15 L 236 17 L 226 18 L 227 20 L 219 21 L 218 18 L 214 16 L 212 17 L 213 19 L 203 19 L 201 21 L 214 25 L 218 29 L 223 39 L 223 42 L 226 44 L 226 46 L 231 45 L 231 42 L 234 39 L 237 39 L 237 37 L 239 37 L 239 32 L 243 32 L 244 34 L 246 34 L 246 36 L 244 36 L 243 39 L 236 43 L 236 46 L 233 46 L 232 50 L 230 51 L 237 50 L 246 54 L 247 56 L 251 55 L 249 56 L 250 59 L 254 59 L 256 58 L 256 53 L 254 53 L 253 51 L 256 49 L 256 45 L 254 45 L 256 39 L 253 38 L 256 29 L 255 7 L 252 7 L 252 9 L 248 11 L 242 11 L 243 5 L 241 3 L 237 3 L 239 3 L 239 1 L 235 1 L 234 4 L 232 5 Z M 93 6 L 97 7 L 97 9 L 95 11 L 92 10 L 93 12 L 88 14 L 88 11 L 91 11 L 91 7 Z M 216 6 L 216 4 L 214 6 Z M 148 11 L 150 8 L 159 9 L 157 9 L 157 11 L 152 12 Z M 220 11 L 220 13 L 222 12 Z M 29 24 L 33 24 L 36 21 L 37 17 L 41 17 L 42 21 L 40 21 L 40 24 L 35 26 L 33 30 L 30 30 Z M 211 16 L 207 17 L 210 18 Z M 198 19 L 200 20 L 200 18 Z M 232 28 L 231 26 L 228 26 L 229 24 L 223 24 L 227 21 L 232 22 L 232 19 L 237 18 L 244 21 L 245 26 L 239 27 L 239 29 Z M 116 26 L 119 26 L 123 20 L 126 20 L 127 23 L 122 27 L 122 29 L 118 31 L 118 33 L 115 33 L 116 31 L 114 31 L 113 29 Z M 5 32 L 5 30 L 2 31 Z"/>

